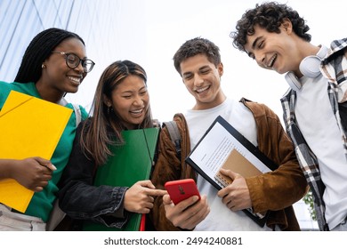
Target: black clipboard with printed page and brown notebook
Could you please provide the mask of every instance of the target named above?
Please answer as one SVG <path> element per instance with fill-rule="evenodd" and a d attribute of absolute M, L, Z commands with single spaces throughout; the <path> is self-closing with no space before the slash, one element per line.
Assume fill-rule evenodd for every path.
<path fill-rule="evenodd" d="M 217 116 L 185 161 L 218 190 L 231 182 L 230 178 L 219 173 L 222 167 L 244 177 L 278 168 L 277 164 L 238 133 L 222 116 Z M 261 227 L 265 225 L 269 215 L 269 212 L 253 213 L 251 209 L 242 211 Z"/>

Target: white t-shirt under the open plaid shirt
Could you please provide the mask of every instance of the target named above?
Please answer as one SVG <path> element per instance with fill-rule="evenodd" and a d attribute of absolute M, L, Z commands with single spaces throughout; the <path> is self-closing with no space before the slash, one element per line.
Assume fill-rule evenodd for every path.
<path fill-rule="evenodd" d="M 329 229 L 347 215 L 347 160 L 342 135 L 327 95 L 327 79 L 302 77 L 303 87 L 296 91 L 295 116 L 305 141 L 318 157 L 326 189 L 326 219 Z"/>

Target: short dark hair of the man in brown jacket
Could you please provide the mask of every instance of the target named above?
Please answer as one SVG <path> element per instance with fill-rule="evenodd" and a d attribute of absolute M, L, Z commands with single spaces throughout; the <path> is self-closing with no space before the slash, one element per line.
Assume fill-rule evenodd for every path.
<path fill-rule="evenodd" d="M 186 41 L 173 55 L 173 65 L 181 75 L 181 62 L 198 54 L 205 54 L 207 60 L 218 66 L 221 63 L 219 47 L 206 38 L 196 37 Z"/>

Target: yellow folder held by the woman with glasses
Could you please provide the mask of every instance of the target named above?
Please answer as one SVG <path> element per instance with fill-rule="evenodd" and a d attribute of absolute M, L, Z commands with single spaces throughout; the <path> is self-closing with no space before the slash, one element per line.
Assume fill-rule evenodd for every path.
<path fill-rule="evenodd" d="M 61 139 L 72 109 L 10 92 L 0 111 L 0 158 L 43 157 L 50 160 Z M 0 203 L 24 213 L 33 197 L 13 179 L 0 181 Z"/>

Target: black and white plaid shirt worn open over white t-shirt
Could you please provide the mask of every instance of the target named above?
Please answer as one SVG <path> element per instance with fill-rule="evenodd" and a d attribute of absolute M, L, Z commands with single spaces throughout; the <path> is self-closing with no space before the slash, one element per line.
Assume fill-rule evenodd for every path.
<path fill-rule="evenodd" d="M 347 100 L 347 50 L 344 49 L 346 47 L 347 38 L 332 42 L 331 49 L 326 59 L 322 61 L 320 68 L 323 76 L 327 78 L 327 94 L 335 114 L 336 122 L 341 131 L 344 154 L 347 158 L 347 131 L 343 129 L 338 105 Z M 296 157 L 311 187 L 319 229 L 328 230 L 327 221 L 325 219 L 326 208 L 323 201 L 325 186 L 320 177 L 317 157 L 307 145 L 303 138 L 303 134 L 296 124 L 295 101 L 296 92 L 291 89 L 289 89 L 281 99 L 286 132 L 294 143 Z"/>

